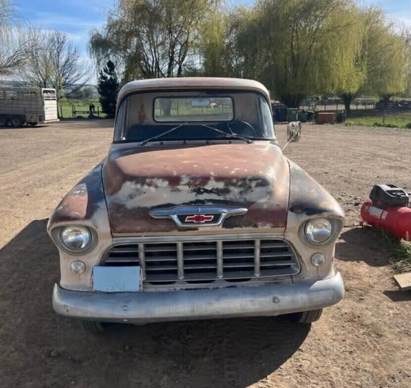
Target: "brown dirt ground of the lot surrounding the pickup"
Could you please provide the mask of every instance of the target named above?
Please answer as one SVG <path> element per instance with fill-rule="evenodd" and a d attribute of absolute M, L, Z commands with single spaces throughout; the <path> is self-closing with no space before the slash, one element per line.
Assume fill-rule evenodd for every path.
<path fill-rule="evenodd" d="M 106 154 L 110 121 L 0 130 L 0 387 L 411 387 L 411 293 L 397 291 L 378 234 L 358 224 L 374 183 L 411 191 L 411 131 L 305 125 L 285 154 L 342 204 L 346 296 L 298 326 L 272 318 L 114 326 L 56 316 L 47 217 Z M 277 133 L 284 144 L 285 127 Z"/>

